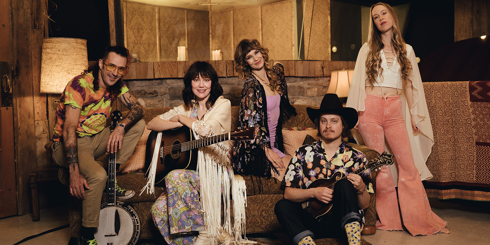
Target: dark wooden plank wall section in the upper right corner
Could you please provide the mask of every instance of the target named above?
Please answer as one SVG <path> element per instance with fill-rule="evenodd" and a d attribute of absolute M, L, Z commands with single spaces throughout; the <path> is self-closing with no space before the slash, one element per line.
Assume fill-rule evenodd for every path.
<path fill-rule="evenodd" d="M 454 41 L 483 35 L 490 35 L 490 1 L 454 0 Z"/>

